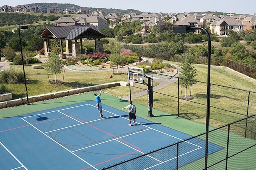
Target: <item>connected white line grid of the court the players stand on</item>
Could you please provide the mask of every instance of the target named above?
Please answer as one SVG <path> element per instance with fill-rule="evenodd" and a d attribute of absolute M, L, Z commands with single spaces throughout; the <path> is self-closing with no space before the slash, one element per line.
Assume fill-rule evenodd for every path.
<path fill-rule="evenodd" d="M 91 104 L 85 104 L 85 105 L 90 105 L 90 106 L 92 106 L 92 107 L 97 108 L 96 106 L 91 105 Z M 85 106 L 85 105 L 79 105 L 79 106 L 70 107 L 70 108 L 66 108 L 66 109 L 60 109 L 60 110 L 56 110 L 56 111 L 58 111 L 59 113 L 61 113 L 60 111 L 62 111 L 62 110 L 72 109 L 72 108 L 76 108 L 76 107 L 82 107 L 82 106 Z M 102 109 L 102 110 L 103 110 L 103 111 L 106 111 L 106 110 L 104 110 L 104 109 Z M 50 111 L 50 112 L 41 113 L 41 114 L 38 114 L 38 115 L 48 114 L 48 113 L 52 113 L 52 112 L 56 112 L 56 111 Z M 112 112 L 110 112 L 110 111 L 106 111 L 106 112 L 108 112 L 108 113 L 110 113 L 110 114 L 112 114 L 112 115 L 121 117 L 120 115 L 117 115 L 117 114 L 112 113 Z M 64 113 L 62 113 L 62 114 L 64 114 Z M 65 115 L 65 114 L 64 114 L 64 115 Z M 29 116 L 29 117 L 33 117 L 33 116 L 37 116 L 37 115 L 32 115 L 32 116 Z M 67 115 L 66 115 L 66 116 L 67 116 Z M 69 117 L 69 116 L 67 116 L 67 117 Z M 22 119 L 24 120 L 25 118 L 28 118 L 28 117 L 24 117 L 24 118 L 22 118 Z M 70 117 L 70 118 L 73 119 L 72 117 Z M 121 117 L 121 118 L 128 120 L 128 119 L 125 118 L 125 117 Z M 76 119 L 74 119 L 74 120 L 76 120 Z M 98 120 L 102 120 L 102 119 L 98 119 Z M 98 120 L 95 120 L 95 121 L 98 121 Z M 24 120 L 24 121 L 25 121 L 25 120 Z M 26 121 L 26 122 L 27 122 L 27 121 Z M 80 124 L 78 124 L 78 125 L 82 125 L 82 124 L 86 124 L 86 123 L 90 123 L 90 122 L 94 122 L 94 121 L 90 121 L 90 122 L 86 122 L 86 123 L 81 123 L 80 121 L 78 121 L 78 122 L 80 123 Z M 28 123 L 28 122 L 27 122 L 27 123 Z M 30 123 L 28 123 L 28 124 L 31 125 L 32 127 L 34 127 L 32 124 L 30 124 Z M 144 131 L 146 131 L 146 130 L 150 130 L 150 129 L 151 129 L 151 130 L 155 130 L 155 131 L 157 131 L 157 132 L 160 132 L 160 133 L 162 133 L 162 134 L 165 134 L 165 135 L 167 135 L 167 136 L 170 136 L 170 137 L 176 138 L 176 139 L 178 139 L 178 140 L 184 141 L 184 140 L 181 139 L 181 138 L 178 138 L 178 137 L 176 137 L 176 136 L 172 136 L 172 135 L 170 135 L 170 134 L 164 133 L 164 132 L 162 132 L 162 131 L 160 131 L 160 130 L 156 130 L 156 129 L 154 129 L 154 128 L 148 127 L 148 126 L 143 125 L 143 124 L 140 124 L 140 123 L 137 123 L 137 124 L 142 125 L 142 126 L 148 128 L 148 129 L 145 129 L 145 130 L 140 131 L 140 132 L 144 132 Z M 72 125 L 72 126 L 70 126 L 70 127 L 74 127 L 74 126 L 78 126 L 78 125 Z M 34 128 L 36 128 L 36 127 L 34 127 Z M 64 127 L 64 128 L 69 128 L 69 127 Z M 61 130 L 61 129 L 64 129 L 64 128 L 60 128 L 60 129 L 58 129 L 58 130 Z M 37 129 L 38 131 L 40 131 L 38 128 L 36 128 L 36 129 Z M 57 130 L 52 130 L 52 131 L 57 131 Z M 52 132 L 52 131 L 50 131 L 50 132 Z M 42 134 L 44 134 L 44 135 L 46 135 L 45 133 L 48 133 L 48 132 L 43 133 L 42 131 L 40 131 L 40 132 L 41 132 Z M 114 138 L 114 139 L 112 139 L 112 140 L 116 140 L 116 141 L 120 142 L 118 139 L 124 138 L 124 137 L 126 137 L 126 136 L 131 136 L 131 135 L 133 135 L 133 134 L 140 133 L 140 132 L 135 132 L 135 133 L 128 134 L 128 135 L 125 135 L 125 136 L 121 136 L 121 137 L 118 137 L 118 138 Z M 48 138 L 50 138 L 48 135 L 46 135 L 46 136 L 47 136 Z M 50 138 L 50 139 L 53 140 L 52 138 Z M 90 147 L 93 147 L 93 146 L 96 146 L 96 145 L 99 145 L 99 144 L 103 144 L 103 143 L 106 143 L 106 142 L 110 142 L 110 141 L 112 141 L 112 140 L 107 140 L 107 141 L 105 141 L 105 142 L 101 142 L 101 143 L 98 143 L 98 144 L 94 144 L 94 145 L 91 145 L 91 146 L 87 146 L 87 147 L 85 147 L 85 148 L 80 148 L 80 149 L 74 150 L 74 151 L 68 150 L 67 148 L 65 148 L 64 146 L 62 146 L 61 144 L 59 144 L 59 143 L 56 142 L 55 140 L 53 140 L 53 141 L 56 142 L 57 144 L 59 144 L 60 146 L 62 146 L 64 149 L 68 150 L 70 153 L 74 154 L 74 152 L 76 152 L 76 151 L 79 151 L 79 150 L 82 150 L 82 149 L 86 149 L 86 148 L 90 148 Z M 186 153 L 184 153 L 184 154 L 182 154 L 182 155 L 180 155 L 180 156 L 183 156 L 183 155 L 185 155 L 185 154 L 188 154 L 188 153 L 190 153 L 190 152 L 194 152 L 195 150 L 198 150 L 198 149 L 202 148 L 201 146 L 198 146 L 198 145 L 193 144 L 193 143 L 191 143 L 191 142 L 187 142 L 187 141 L 185 141 L 185 142 L 188 143 L 188 144 L 197 146 L 198 148 L 196 148 L 196 149 L 194 149 L 194 150 L 191 150 L 191 151 L 189 151 L 189 152 L 186 152 Z M 122 142 L 120 142 L 120 143 L 122 143 Z M 122 144 L 124 144 L 124 143 L 122 143 Z M 128 146 L 127 144 L 124 144 L 124 145 Z M 132 148 L 131 146 L 129 146 L 129 147 Z M 133 148 L 133 149 L 136 150 L 136 148 Z M 138 151 L 138 150 L 136 150 L 136 151 Z M 138 151 L 138 152 L 140 152 L 140 151 Z M 141 152 L 141 153 L 144 154 L 143 152 Z M 74 155 L 77 156 L 76 154 L 74 154 Z M 82 160 L 83 162 L 85 162 L 85 163 L 87 163 L 88 165 L 90 165 L 88 162 L 86 162 L 85 160 L 83 160 L 83 159 L 80 158 L 79 156 L 77 156 L 77 157 L 78 157 L 80 160 Z M 149 157 L 151 157 L 151 156 L 149 156 Z M 151 158 L 153 158 L 153 157 L 151 157 Z M 174 157 L 174 158 L 176 158 L 176 157 Z M 165 163 L 165 162 L 168 162 L 168 161 L 170 161 L 170 160 L 173 160 L 174 158 L 171 158 L 171 159 L 166 160 L 166 161 L 164 161 L 164 162 L 162 162 L 162 161 L 160 161 L 160 160 L 158 160 L 158 161 L 161 162 L 161 163 L 159 163 L 159 164 L 163 164 L 163 163 Z M 153 159 L 157 160 L 156 158 L 153 158 Z M 159 165 L 159 164 L 156 164 L 156 165 L 154 165 L 154 166 L 157 166 L 157 165 Z M 94 166 L 92 166 L 92 165 L 90 165 L 90 166 L 91 166 L 92 168 L 96 169 Z M 152 167 L 154 167 L 154 166 L 152 166 Z M 147 169 L 148 169 L 148 168 L 147 168 Z"/>

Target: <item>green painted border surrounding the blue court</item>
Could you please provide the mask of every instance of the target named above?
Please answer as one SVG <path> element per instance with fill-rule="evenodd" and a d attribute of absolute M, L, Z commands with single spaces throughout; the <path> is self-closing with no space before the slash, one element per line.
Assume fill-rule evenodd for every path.
<path fill-rule="evenodd" d="M 68 97 L 62 97 L 58 99 L 51 99 L 48 101 L 41 101 L 37 103 L 31 103 L 30 105 L 22 105 L 22 106 L 17 106 L 17 107 L 12 107 L 12 108 L 6 108 L 6 109 L 1 109 L 0 110 L 0 119 L 2 118 L 8 118 L 8 117 L 15 117 L 19 115 L 24 115 L 28 113 L 33 113 L 36 111 L 42 111 L 46 109 L 53 109 L 56 107 L 62 107 L 66 105 L 72 105 L 75 103 L 81 103 L 84 101 L 92 101 L 95 100 L 94 97 L 94 92 L 89 92 L 85 94 L 80 94 L 80 95 L 73 95 L 73 96 L 68 96 Z M 126 99 L 121 99 L 112 95 L 108 95 L 106 93 L 102 93 L 101 95 L 101 100 L 102 104 L 108 105 L 110 107 L 116 108 L 121 110 L 124 106 L 129 104 L 129 101 Z M 197 134 L 202 134 L 205 132 L 206 127 L 204 124 L 196 123 L 194 121 L 188 120 L 188 119 L 183 119 L 174 115 L 170 115 L 168 113 L 164 113 L 162 111 L 158 111 L 156 109 L 152 109 L 152 113 L 154 114 L 155 117 L 148 117 L 148 107 L 143 106 L 143 105 L 138 105 L 134 103 L 137 108 L 137 116 L 142 117 L 144 119 L 150 120 L 154 123 L 161 123 L 161 125 L 178 130 L 180 132 L 196 136 Z M 104 109 L 104 108 L 103 108 Z M 103 113 L 104 114 L 104 113 Z M 212 128 L 210 128 L 212 129 Z M 222 132 L 215 133 L 216 138 L 221 135 Z M 239 147 L 241 145 L 241 141 L 244 140 L 244 138 L 241 138 L 241 136 L 238 136 L 236 143 L 237 146 Z M 222 141 L 221 139 L 218 140 L 220 143 L 218 145 L 223 146 L 226 148 L 226 142 Z M 216 141 L 215 141 L 216 142 Z M 255 141 L 252 141 L 255 142 Z M 238 148 L 239 149 L 239 148 Z M 220 151 L 221 155 L 225 155 L 226 149 Z M 255 170 L 256 168 L 256 163 L 255 163 L 255 153 L 256 153 L 256 147 L 252 147 L 249 150 L 246 150 L 233 158 L 230 158 L 228 160 L 228 169 L 232 170 Z M 214 162 L 215 159 L 215 154 L 210 155 L 210 162 Z M 216 154 L 217 155 L 217 154 Z M 209 160 L 209 158 L 208 158 Z M 238 161 L 239 160 L 239 161 Z M 204 158 L 195 161 L 187 166 L 190 168 L 198 168 L 198 164 L 204 164 Z M 180 169 L 187 169 L 188 167 L 184 166 Z M 221 168 L 220 168 L 221 167 Z M 225 162 L 220 163 L 219 165 L 216 165 L 212 169 L 222 169 L 225 167 Z"/>

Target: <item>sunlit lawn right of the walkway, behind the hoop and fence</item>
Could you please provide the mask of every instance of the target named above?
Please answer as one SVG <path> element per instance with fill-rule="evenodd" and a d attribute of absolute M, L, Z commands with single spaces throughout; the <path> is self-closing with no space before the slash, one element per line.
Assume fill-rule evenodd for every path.
<path fill-rule="evenodd" d="M 196 67 L 198 73 L 196 79 L 198 81 L 207 82 L 207 65 L 194 65 L 194 67 Z M 248 92 L 232 88 L 252 91 L 250 93 L 249 115 L 256 114 L 256 105 L 254 104 L 256 93 L 253 93 L 256 92 L 256 81 L 254 79 L 248 78 L 226 67 L 212 66 L 210 83 L 213 84 L 211 86 L 210 105 L 212 107 L 223 109 L 210 109 L 210 126 L 220 127 L 227 123 L 232 123 L 245 118 L 244 115 L 247 114 Z M 132 93 L 136 90 L 137 89 L 135 87 L 131 88 Z M 204 124 L 206 122 L 206 90 L 206 83 L 198 82 L 193 85 L 191 93 L 194 99 L 192 102 L 179 100 L 179 116 Z M 117 96 L 124 96 L 124 94 L 128 95 L 127 93 L 129 92 L 129 89 L 128 87 L 114 87 L 107 89 L 107 91 Z M 184 91 L 184 88 L 179 91 L 179 96 L 184 95 Z M 188 94 L 190 95 L 190 89 L 188 89 Z M 178 115 L 177 97 L 177 82 L 156 91 L 156 93 L 153 94 L 154 109 L 164 111 L 171 115 Z M 141 105 L 147 105 L 147 96 L 144 95 L 137 97 L 133 99 L 133 101 Z M 230 113 L 225 110 L 232 111 L 234 113 Z M 236 113 L 241 113 L 243 115 Z"/>

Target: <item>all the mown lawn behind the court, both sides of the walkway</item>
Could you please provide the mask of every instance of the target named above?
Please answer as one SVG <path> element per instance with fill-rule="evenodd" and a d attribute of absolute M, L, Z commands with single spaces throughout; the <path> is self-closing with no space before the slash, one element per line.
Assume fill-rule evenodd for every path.
<path fill-rule="evenodd" d="M 41 64 L 44 65 L 44 64 Z M 196 80 L 207 82 L 207 65 L 193 65 L 197 69 Z M 22 65 L 13 66 L 22 70 Z M 113 74 L 111 70 L 104 71 L 86 71 L 86 72 L 62 72 L 57 75 L 57 79 L 64 83 L 62 85 L 50 85 L 50 81 L 54 80 L 54 75 L 49 75 L 44 69 L 32 69 L 32 66 L 25 67 L 27 81 L 28 95 L 40 95 L 46 93 L 52 93 L 57 91 L 63 91 L 67 89 L 75 89 L 79 87 L 86 87 L 91 85 L 97 85 L 102 83 L 110 83 L 114 81 L 127 81 L 127 73 L 115 74 L 110 79 L 109 75 Z M 246 107 L 248 100 L 248 92 L 230 89 L 227 87 L 234 87 L 238 89 L 244 89 L 252 91 L 250 99 L 256 98 L 256 81 L 250 79 L 242 74 L 232 71 L 226 67 L 211 66 L 211 106 L 233 111 L 235 113 L 242 113 L 246 115 Z M 154 82 L 153 86 L 158 83 Z M 216 86 L 216 85 L 222 86 Z M 20 84 L 6 84 L 7 89 L 12 93 L 13 98 L 26 97 L 25 86 Z M 138 87 L 138 88 L 136 88 Z M 147 89 L 146 85 L 134 83 L 134 87 L 131 87 L 131 93 L 138 93 L 143 89 Z M 179 101 L 179 115 L 181 117 L 197 121 L 199 123 L 206 122 L 206 83 L 196 83 L 192 86 L 191 95 L 194 97 L 192 102 L 186 100 Z M 179 96 L 184 95 L 185 89 L 182 88 L 179 91 Z M 104 89 L 105 93 L 124 97 L 130 95 L 129 86 L 112 87 Z M 188 95 L 190 95 L 190 89 L 188 89 Z M 156 91 L 153 94 L 154 109 L 164 111 L 171 115 L 178 114 L 178 83 L 175 82 L 163 89 Z M 140 96 L 132 99 L 134 102 L 147 105 L 147 96 Z M 250 114 L 255 114 L 256 106 L 253 100 L 250 100 Z M 202 103 L 202 104 L 198 104 Z M 250 115 L 249 114 L 249 115 Z M 210 125 L 214 127 L 220 127 L 227 123 L 234 122 L 242 119 L 244 116 L 237 114 L 226 113 L 218 109 L 211 108 Z"/>

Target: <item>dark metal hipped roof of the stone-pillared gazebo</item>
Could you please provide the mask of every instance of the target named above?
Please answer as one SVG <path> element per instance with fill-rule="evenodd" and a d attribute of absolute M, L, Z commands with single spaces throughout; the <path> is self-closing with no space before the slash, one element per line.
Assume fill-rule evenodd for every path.
<path fill-rule="evenodd" d="M 44 29 L 40 38 L 60 38 L 74 40 L 79 38 L 104 38 L 106 37 L 93 25 L 77 26 L 50 26 Z"/>

